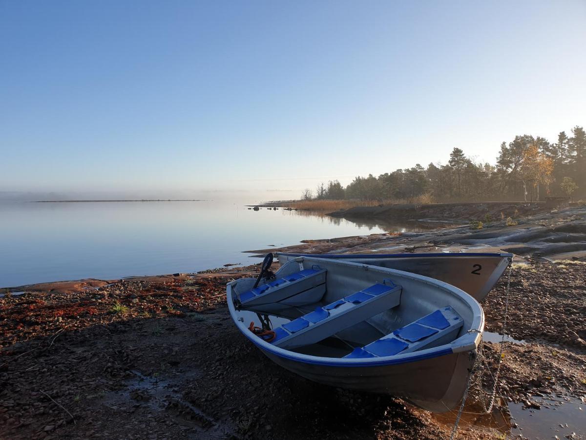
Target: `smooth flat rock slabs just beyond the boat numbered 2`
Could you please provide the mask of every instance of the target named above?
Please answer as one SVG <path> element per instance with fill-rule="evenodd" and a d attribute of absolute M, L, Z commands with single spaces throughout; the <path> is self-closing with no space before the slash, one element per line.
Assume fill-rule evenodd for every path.
<path fill-rule="evenodd" d="M 541 211 L 515 219 L 492 219 L 482 228 L 447 225 L 425 232 L 394 232 L 305 240 L 285 248 L 255 249 L 302 253 L 512 252 L 517 260 L 586 260 L 586 206 Z"/>

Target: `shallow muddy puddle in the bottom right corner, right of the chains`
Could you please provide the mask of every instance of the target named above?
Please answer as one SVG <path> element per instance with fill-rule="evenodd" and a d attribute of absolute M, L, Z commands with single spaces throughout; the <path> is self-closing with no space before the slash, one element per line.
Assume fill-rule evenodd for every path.
<path fill-rule="evenodd" d="M 535 440 L 586 438 L 586 397 L 533 396 L 540 409 L 509 403 L 512 435 Z"/>

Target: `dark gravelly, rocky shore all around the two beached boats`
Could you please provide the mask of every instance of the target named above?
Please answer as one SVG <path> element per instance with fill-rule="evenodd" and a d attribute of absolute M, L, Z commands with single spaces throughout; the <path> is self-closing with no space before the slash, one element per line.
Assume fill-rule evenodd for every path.
<path fill-rule="evenodd" d="M 584 214 L 287 250 L 515 247 L 510 289 L 503 276 L 482 304 L 485 330 L 502 333 L 509 303 L 498 405 L 482 414 L 500 356 L 500 336 L 487 333 L 457 438 L 575 439 L 586 436 Z M 449 438 L 453 413 L 316 385 L 248 343 L 231 323 L 225 285 L 258 268 L 0 289 L 0 438 Z"/>

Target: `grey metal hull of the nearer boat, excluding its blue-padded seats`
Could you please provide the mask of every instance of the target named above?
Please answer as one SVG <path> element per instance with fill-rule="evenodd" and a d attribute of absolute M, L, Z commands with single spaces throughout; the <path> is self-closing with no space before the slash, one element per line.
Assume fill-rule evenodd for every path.
<path fill-rule="evenodd" d="M 278 279 L 281 273 L 286 275 L 292 265 L 303 265 L 305 269 L 319 266 L 327 270 L 326 294 L 319 303 L 322 305 L 338 300 L 338 296 L 347 297 L 349 293 L 377 281 L 391 279 L 401 286 L 400 304 L 380 310 L 376 316 L 362 321 L 360 326 L 339 330 L 338 339 L 352 341 L 353 347 L 366 346 L 396 329 L 405 329 L 406 324 L 415 323 L 441 307 L 451 307 L 463 323 L 455 339 L 404 353 L 348 357 L 348 348 L 342 354 L 334 355 L 327 354 L 331 352 L 326 351 L 326 345 L 288 350 L 265 341 L 249 329 L 251 321 L 258 327 L 261 323 L 255 319 L 255 313 L 247 310 L 246 304 L 238 299 L 242 292 L 250 288 L 254 279 L 243 278 L 228 283 L 227 303 L 234 324 L 275 364 L 316 383 L 390 394 L 428 411 L 451 411 L 458 405 L 464 395 L 484 327 L 482 307 L 471 296 L 429 277 L 336 259 L 298 257 L 283 265 L 275 277 Z M 313 306 L 315 304 L 308 309 L 314 309 Z M 305 310 L 297 313 L 292 316 L 281 313 L 279 316 L 287 317 L 285 321 L 289 323 L 289 319 L 296 319 Z M 275 325 L 279 324 L 276 322 Z M 376 334 L 369 333 L 366 327 Z M 275 326 L 271 328 L 275 329 Z"/>

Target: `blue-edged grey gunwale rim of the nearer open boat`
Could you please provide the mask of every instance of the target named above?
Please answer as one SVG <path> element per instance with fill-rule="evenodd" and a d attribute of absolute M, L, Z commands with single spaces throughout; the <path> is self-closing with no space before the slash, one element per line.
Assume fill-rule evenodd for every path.
<path fill-rule="evenodd" d="M 307 258 L 305 256 L 302 257 Z M 312 258 L 309 257 L 309 259 L 311 260 Z M 417 362 L 420 360 L 425 360 L 434 357 L 445 356 L 447 354 L 452 353 L 461 353 L 462 351 L 475 351 L 478 348 L 478 344 L 480 343 L 482 336 L 482 330 L 484 329 L 484 312 L 478 301 L 476 301 L 472 296 L 468 295 L 468 293 L 464 292 L 461 289 L 458 289 L 458 287 L 452 286 L 443 281 L 432 279 L 430 277 L 423 275 L 418 275 L 416 273 L 404 272 L 403 270 L 397 269 L 380 268 L 379 266 L 365 265 L 363 263 L 343 262 L 343 264 L 359 266 L 364 270 L 374 270 L 376 272 L 386 274 L 390 272 L 397 273 L 397 275 L 400 276 L 409 277 L 411 279 L 419 280 L 430 285 L 443 287 L 444 289 L 447 289 L 450 293 L 452 293 L 452 295 L 459 297 L 459 299 L 463 300 L 468 305 L 468 307 L 470 307 L 472 312 L 472 323 L 470 325 L 471 328 L 466 330 L 465 334 L 458 337 L 455 341 L 452 341 L 449 344 L 444 344 L 438 347 L 426 348 L 425 350 L 414 351 L 412 353 L 395 354 L 393 356 L 383 356 L 376 358 L 334 358 L 297 353 L 295 351 L 285 350 L 284 348 L 273 346 L 272 344 L 268 343 L 262 338 L 259 338 L 255 334 L 251 333 L 251 331 L 248 330 L 244 323 L 237 320 L 236 307 L 234 306 L 232 294 L 232 285 L 233 283 L 239 282 L 239 280 L 234 280 L 233 282 L 230 282 L 226 285 L 226 302 L 228 303 L 228 309 L 230 311 L 230 316 L 234 321 L 234 324 L 236 324 L 240 332 L 244 334 L 244 336 L 246 336 L 248 340 L 255 344 L 255 346 L 260 348 L 260 350 L 268 351 L 269 353 L 274 354 L 275 356 L 282 357 L 288 360 L 293 360 L 304 364 L 324 365 L 328 367 L 355 368 L 380 367 L 384 365 L 404 364 Z M 472 336 L 472 334 L 474 333 L 475 336 L 473 336 L 473 338 L 466 340 L 466 336 Z M 455 342 L 458 340 L 461 341 L 455 344 Z"/>

